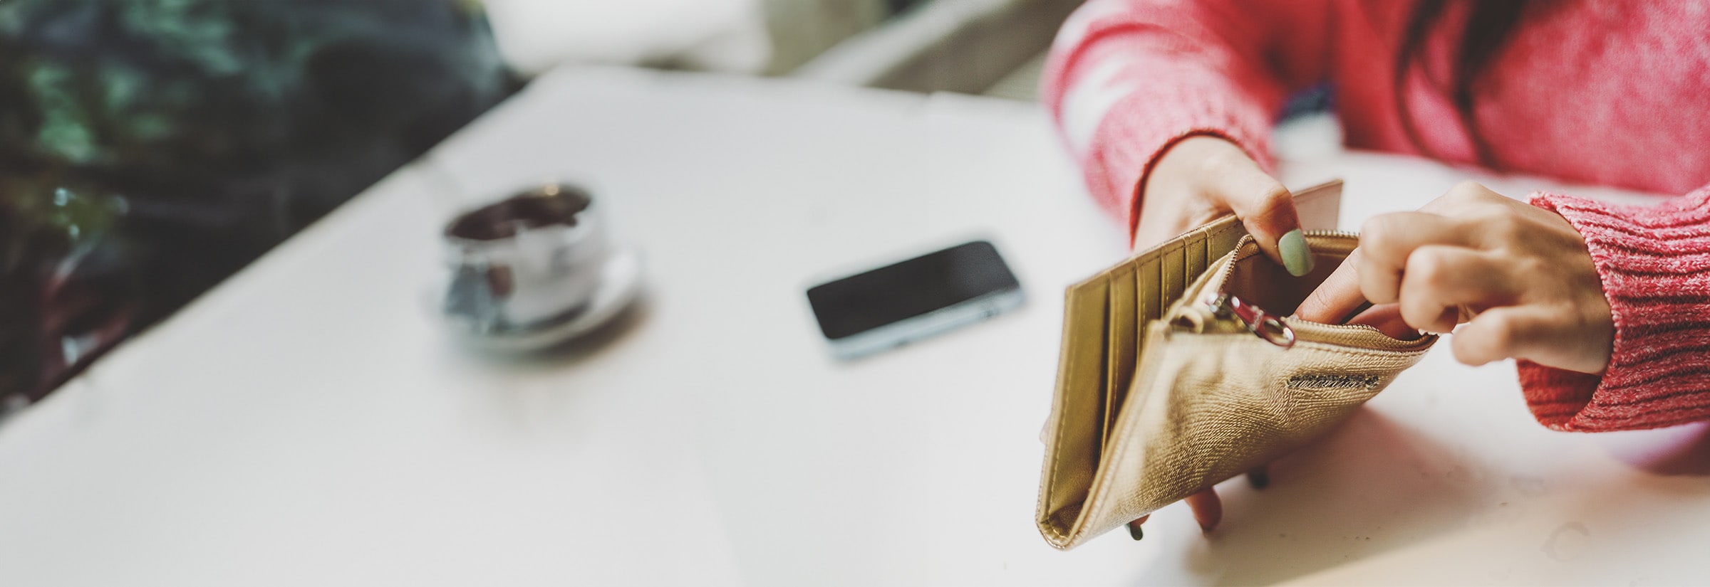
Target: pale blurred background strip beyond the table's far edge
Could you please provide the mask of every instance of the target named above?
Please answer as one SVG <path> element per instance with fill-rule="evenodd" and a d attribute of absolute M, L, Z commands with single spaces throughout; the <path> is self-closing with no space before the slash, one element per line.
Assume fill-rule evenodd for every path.
<path fill-rule="evenodd" d="M 522 75 L 626 63 L 1031 99 L 1072 0 L 489 0 Z"/>

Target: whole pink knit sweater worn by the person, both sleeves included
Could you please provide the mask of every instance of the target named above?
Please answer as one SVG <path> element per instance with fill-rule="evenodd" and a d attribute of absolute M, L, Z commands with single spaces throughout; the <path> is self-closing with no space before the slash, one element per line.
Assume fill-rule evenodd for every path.
<path fill-rule="evenodd" d="M 1064 26 L 1045 99 L 1094 198 L 1134 229 L 1156 157 L 1190 135 L 1224 137 L 1271 166 L 1282 101 L 1336 89 L 1349 147 L 1418 154 L 1395 108 L 1394 60 L 1411 2 L 1089 0 Z M 1404 89 L 1428 154 L 1472 162 L 1447 101 L 1452 7 Z M 1710 183 L 1710 5 L 1554 2 L 1527 15 L 1474 97 L 1496 164 L 1643 191 Z M 1710 418 L 1710 186 L 1655 208 L 1563 195 L 1532 203 L 1585 235 L 1614 311 L 1601 375 L 1520 362 L 1532 413 L 1558 430 Z"/>

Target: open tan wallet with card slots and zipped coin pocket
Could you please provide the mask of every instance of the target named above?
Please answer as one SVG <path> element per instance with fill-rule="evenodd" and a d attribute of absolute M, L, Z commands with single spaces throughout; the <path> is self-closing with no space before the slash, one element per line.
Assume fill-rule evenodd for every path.
<path fill-rule="evenodd" d="M 1342 184 L 1296 193 L 1308 229 Z M 1294 309 L 1359 244 L 1306 230 L 1293 276 L 1224 217 L 1069 287 L 1045 425 L 1038 526 L 1069 549 L 1330 432 L 1436 336 L 1320 324 Z"/>

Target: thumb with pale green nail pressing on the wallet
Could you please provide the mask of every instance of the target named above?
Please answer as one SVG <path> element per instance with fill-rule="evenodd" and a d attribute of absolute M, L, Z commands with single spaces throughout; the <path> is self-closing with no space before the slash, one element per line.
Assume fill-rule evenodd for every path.
<path fill-rule="evenodd" d="M 1313 258 L 1306 247 L 1306 235 L 1300 230 L 1294 196 L 1282 183 L 1259 169 L 1259 164 L 1247 162 L 1247 167 L 1250 169 L 1226 177 L 1229 210 L 1241 218 L 1265 256 L 1294 276 L 1312 273 Z"/>

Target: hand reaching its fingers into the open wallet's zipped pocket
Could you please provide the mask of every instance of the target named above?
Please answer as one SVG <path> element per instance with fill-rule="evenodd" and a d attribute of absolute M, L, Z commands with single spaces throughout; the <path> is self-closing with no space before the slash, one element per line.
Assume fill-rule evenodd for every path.
<path fill-rule="evenodd" d="M 1399 316 L 1407 328 L 1454 331 L 1450 346 L 1467 365 L 1525 358 L 1597 374 L 1614 345 L 1585 237 L 1553 212 L 1471 181 L 1419 212 L 1366 220 L 1359 249 L 1298 316 L 1339 323 L 1365 300 L 1385 305 L 1353 323 L 1390 331 L 1377 323 Z"/>

